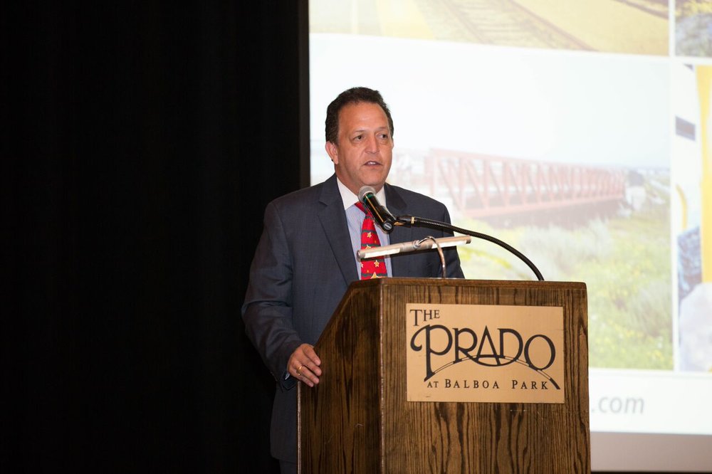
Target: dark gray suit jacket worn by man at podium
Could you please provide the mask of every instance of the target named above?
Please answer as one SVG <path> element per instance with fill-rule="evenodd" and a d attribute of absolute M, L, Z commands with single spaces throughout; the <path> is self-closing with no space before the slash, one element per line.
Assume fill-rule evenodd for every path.
<path fill-rule="evenodd" d="M 450 221 L 438 201 L 397 186 L 384 187 L 394 216 Z M 444 235 L 432 228 L 398 226 L 390 241 Z M 444 253 L 448 277 L 463 278 L 457 251 L 446 248 Z M 391 262 L 394 277 L 441 276 L 436 251 L 394 256 Z M 300 344 L 317 342 L 348 285 L 358 278 L 335 175 L 268 204 L 242 314 L 248 337 L 277 381 L 271 423 L 275 458 L 296 461 L 296 381 L 285 379 L 288 359 Z"/>

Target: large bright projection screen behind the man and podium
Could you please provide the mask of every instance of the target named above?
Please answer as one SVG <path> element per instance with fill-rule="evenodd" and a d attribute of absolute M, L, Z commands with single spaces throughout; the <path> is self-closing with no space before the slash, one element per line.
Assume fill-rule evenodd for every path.
<path fill-rule="evenodd" d="M 389 182 L 589 297 L 593 470 L 712 470 L 712 1 L 310 0 L 324 117 L 379 90 Z M 531 280 L 486 241 L 466 278 Z"/>

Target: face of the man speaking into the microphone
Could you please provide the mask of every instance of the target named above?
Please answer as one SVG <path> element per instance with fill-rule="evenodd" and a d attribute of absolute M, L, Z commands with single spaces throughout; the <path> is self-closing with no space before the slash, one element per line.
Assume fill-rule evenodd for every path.
<path fill-rule="evenodd" d="M 326 152 L 336 176 L 353 194 L 362 186 L 379 191 L 393 159 L 386 113 L 370 102 L 345 105 L 339 113 L 338 143 L 327 142 Z"/>

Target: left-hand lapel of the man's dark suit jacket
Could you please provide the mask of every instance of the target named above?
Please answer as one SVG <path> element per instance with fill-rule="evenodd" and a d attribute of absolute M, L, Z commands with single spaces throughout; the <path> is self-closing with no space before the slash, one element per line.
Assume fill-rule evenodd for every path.
<path fill-rule="evenodd" d="M 339 264 L 344 280 L 348 285 L 357 280 L 358 275 L 356 273 L 356 260 L 351 247 L 351 236 L 349 235 L 346 214 L 344 213 L 344 203 L 336 184 L 335 174 L 324 181 L 319 201 L 324 206 L 318 213 L 319 221 L 329 241 L 331 251 L 333 251 Z"/>

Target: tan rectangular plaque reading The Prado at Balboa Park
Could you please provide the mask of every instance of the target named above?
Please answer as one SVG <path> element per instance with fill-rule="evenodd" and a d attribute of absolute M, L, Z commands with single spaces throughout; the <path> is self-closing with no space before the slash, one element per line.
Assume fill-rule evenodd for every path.
<path fill-rule="evenodd" d="M 408 401 L 562 404 L 562 307 L 406 305 Z"/>

